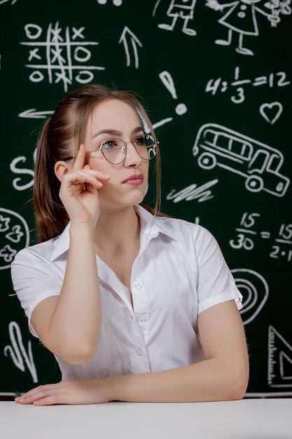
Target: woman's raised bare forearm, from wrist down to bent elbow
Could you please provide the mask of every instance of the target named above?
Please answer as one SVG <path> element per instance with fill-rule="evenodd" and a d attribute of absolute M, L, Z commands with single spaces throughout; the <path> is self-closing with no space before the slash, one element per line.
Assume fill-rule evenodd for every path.
<path fill-rule="evenodd" d="M 64 283 L 42 342 L 68 363 L 88 363 L 97 349 L 101 318 L 92 230 L 88 224 L 71 225 Z"/>

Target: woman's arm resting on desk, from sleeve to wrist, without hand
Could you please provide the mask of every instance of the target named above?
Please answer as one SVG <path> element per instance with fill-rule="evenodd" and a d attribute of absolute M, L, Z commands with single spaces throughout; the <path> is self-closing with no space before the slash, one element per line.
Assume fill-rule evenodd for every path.
<path fill-rule="evenodd" d="M 165 372 L 118 377 L 112 399 L 173 403 L 243 398 L 249 359 L 235 302 L 202 312 L 198 332 L 206 360 Z"/>

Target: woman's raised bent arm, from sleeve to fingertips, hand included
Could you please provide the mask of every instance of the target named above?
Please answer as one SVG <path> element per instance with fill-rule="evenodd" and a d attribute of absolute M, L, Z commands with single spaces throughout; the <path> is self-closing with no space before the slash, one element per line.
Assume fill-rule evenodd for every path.
<path fill-rule="evenodd" d="M 71 219 L 67 269 L 60 296 L 43 300 L 32 313 L 41 342 L 68 363 L 88 363 L 101 327 L 101 303 L 94 234 L 99 217 L 98 189 L 109 177 L 85 165 L 85 147 L 73 168 L 58 162 L 60 198 Z"/>

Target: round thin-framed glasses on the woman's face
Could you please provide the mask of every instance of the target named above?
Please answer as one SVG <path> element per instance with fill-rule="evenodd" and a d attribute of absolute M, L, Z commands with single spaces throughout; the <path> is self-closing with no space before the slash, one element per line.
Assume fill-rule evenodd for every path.
<path fill-rule="evenodd" d="M 132 143 L 137 151 L 137 154 L 143 158 L 143 160 L 151 160 L 156 155 L 156 145 L 159 142 L 155 142 L 154 138 L 150 134 L 140 135 L 134 140 L 128 140 L 125 142 L 122 139 L 113 137 L 111 139 L 104 140 L 98 149 L 87 151 L 87 154 L 95 154 L 97 151 L 102 151 L 104 158 L 112 165 L 119 165 L 122 163 L 127 155 L 127 144 Z M 71 160 L 76 157 L 63 158 L 63 161 Z"/>

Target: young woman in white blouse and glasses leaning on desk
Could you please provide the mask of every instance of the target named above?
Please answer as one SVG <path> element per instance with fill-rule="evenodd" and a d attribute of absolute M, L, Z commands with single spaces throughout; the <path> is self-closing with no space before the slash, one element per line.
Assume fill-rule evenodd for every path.
<path fill-rule="evenodd" d="M 239 399 L 249 378 L 242 296 L 211 234 L 141 202 L 158 142 L 134 95 L 91 85 L 43 126 L 34 208 L 40 243 L 12 278 L 62 381 L 22 404 Z"/>

